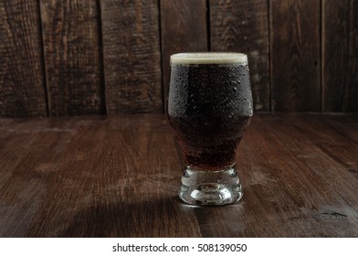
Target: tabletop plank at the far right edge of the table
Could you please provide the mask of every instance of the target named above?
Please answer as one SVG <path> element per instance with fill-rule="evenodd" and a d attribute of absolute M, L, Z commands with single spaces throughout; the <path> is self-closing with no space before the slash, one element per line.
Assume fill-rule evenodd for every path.
<path fill-rule="evenodd" d="M 300 117 L 299 122 L 297 123 L 300 124 L 300 131 L 306 134 L 311 143 L 332 161 L 340 165 L 340 168 L 331 167 L 327 169 L 325 176 L 327 176 L 327 179 L 332 180 L 335 185 L 339 185 L 345 179 L 345 184 L 340 186 L 342 187 L 342 192 L 340 192 L 358 211 L 356 195 L 345 191 L 349 190 L 347 187 L 350 186 L 349 183 L 353 180 L 358 183 L 358 144 L 354 141 L 358 135 L 358 123 L 353 120 L 346 121 L 345 118 L 342 119 L 342 117 L 332 114 L 317 117 L 303 116 Z M 342 126 L 346 127 L 340 128 Z"/>

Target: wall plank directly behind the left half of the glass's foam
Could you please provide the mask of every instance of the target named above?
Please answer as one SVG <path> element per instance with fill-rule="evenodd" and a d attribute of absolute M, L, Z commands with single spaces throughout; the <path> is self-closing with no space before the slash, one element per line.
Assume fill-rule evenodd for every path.
<path fill-rule="evenodd" d="M 206 0 L 161 1 L 163 95 L 169 87 L 170 55 L 177 52 L 208 51 Z"/>

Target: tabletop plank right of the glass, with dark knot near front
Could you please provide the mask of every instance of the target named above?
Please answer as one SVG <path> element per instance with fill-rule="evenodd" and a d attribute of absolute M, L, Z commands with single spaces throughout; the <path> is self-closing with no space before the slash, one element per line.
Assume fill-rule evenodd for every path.
<path fill-rule="evenodd" d="M 267 223 L 251 232 L 279 237 L 356 236 L 356 178 L 332 155 L 322 152 L 320 144 L 311 142 L 317 133 L 327 131 L 320 122 L 310 122 L 316 117 L 268 115 L 251 123 L 237 162 L 242 163 L 243 184 L 248 186 L 244 202 L 254 205 L 253 219 L 265 216 L 262 223 Z M 307 131 L 308 127 L 316 133 Z M 332 135 L 325 141 L 327 147 L 339 137 L 337 133 Z M 346 143 L 351 144 L 342 142 Z M 332 151 L 333 155 L 339 154 L 334 146 Z M 345 225 L 352 226 L 342 228 Z"/>

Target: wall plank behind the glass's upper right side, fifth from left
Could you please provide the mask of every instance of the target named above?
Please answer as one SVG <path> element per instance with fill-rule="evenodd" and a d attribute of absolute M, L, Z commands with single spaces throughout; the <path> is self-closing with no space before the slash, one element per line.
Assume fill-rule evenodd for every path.
<path fill-rule="evenodd" d="M 248 57 L 254 110 L 269 111 L 268 1 L 210 1 L 211 50 Z"/>

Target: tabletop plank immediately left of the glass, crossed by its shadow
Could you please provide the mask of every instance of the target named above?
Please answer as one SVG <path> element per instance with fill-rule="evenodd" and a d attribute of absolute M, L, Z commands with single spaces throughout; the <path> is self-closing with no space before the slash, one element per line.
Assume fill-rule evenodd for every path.
<path fill-rule="evenodd" d="M 64 235 L 200 236 L 195 216 L 189 213 L 184 219 L 185 208 L 176 198 L 181 172 L 173 172 L 179 166 L 173 138 L 163 136 L 171 132 L 163 116 L 121 116 L 107 127 L 92 170 L 97 176 L 89 188 L 92 203 L 79 211 Z M 162 146 L 153 146 L 158 142 Z"/>

